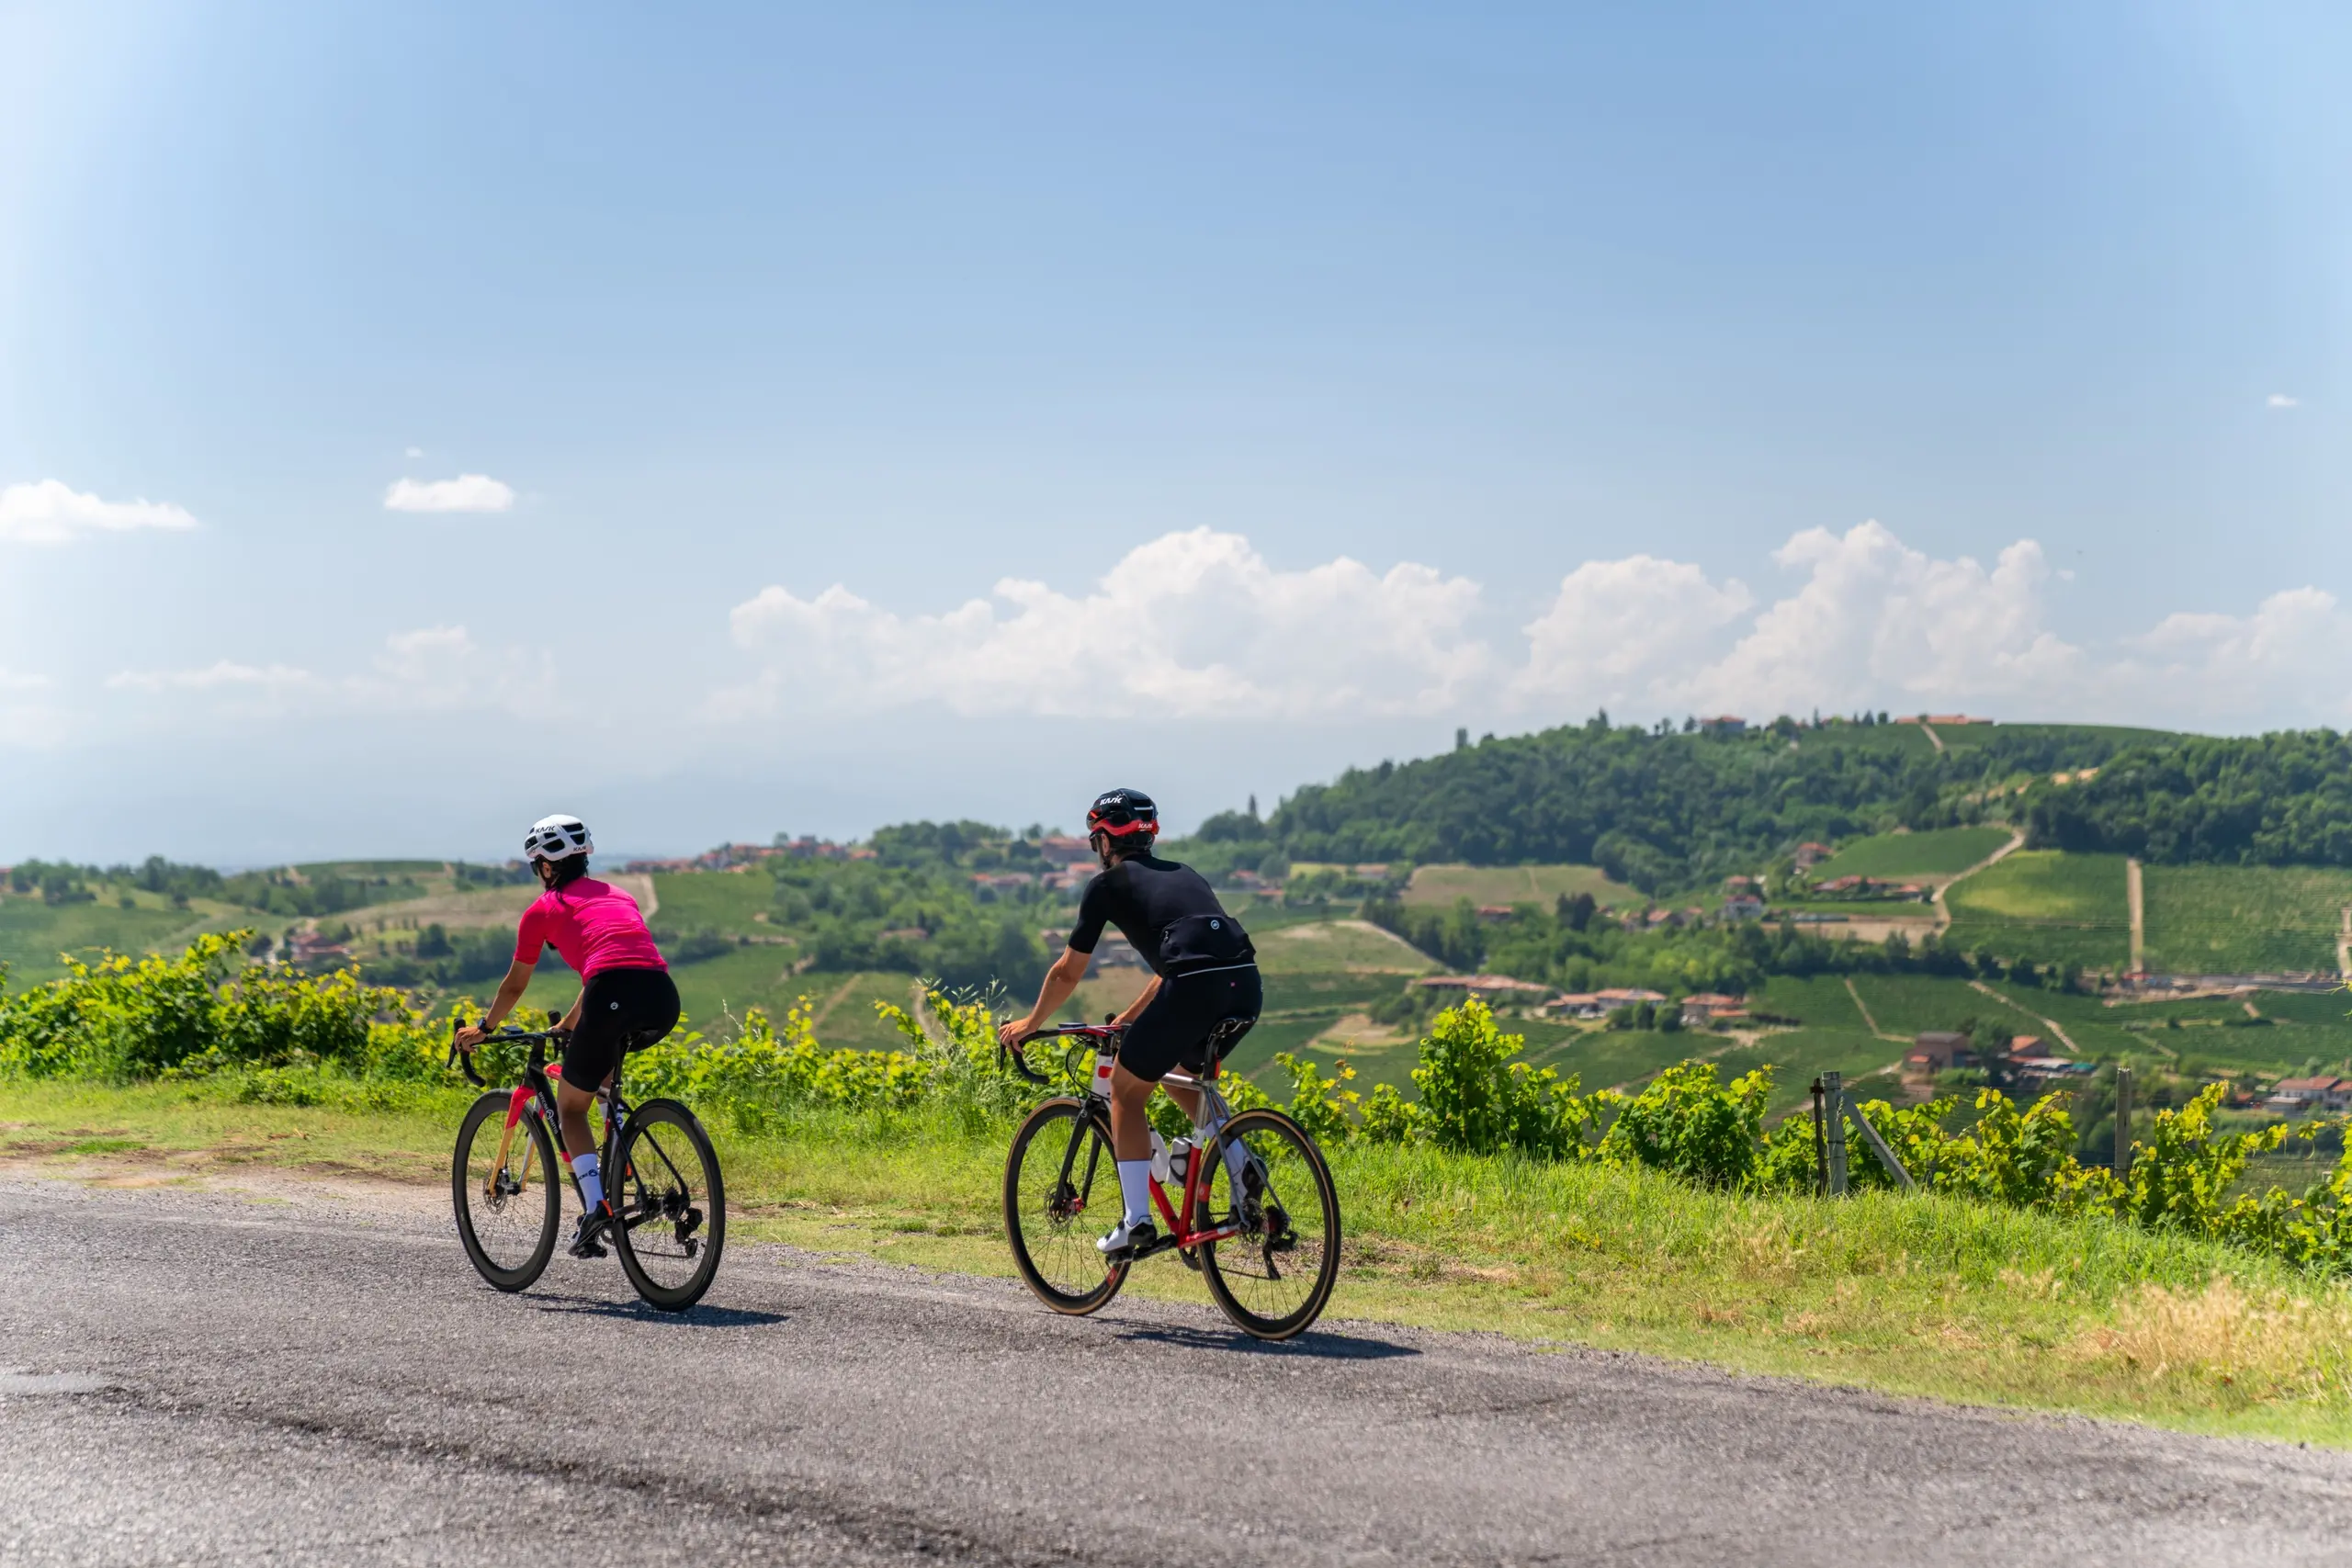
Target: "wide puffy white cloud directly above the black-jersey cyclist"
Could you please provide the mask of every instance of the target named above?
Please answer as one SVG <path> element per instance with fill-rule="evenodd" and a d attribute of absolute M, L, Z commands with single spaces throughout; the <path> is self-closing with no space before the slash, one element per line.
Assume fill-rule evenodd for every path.
<path fill-rule="evenodd" d="M 1192 529 L 1138 545 L 1091 592 L 1004 578 L 934 616 L 844 585 L 762 588 L 731 630 L 764 672 L 717 710 L 1082 715 L 1127 698 L 1174 717 L 1435 715 L 1496 675 L 1477 609 L 1477 583 L 1430 567 L 1284 571 L 1237 534 Z"/>

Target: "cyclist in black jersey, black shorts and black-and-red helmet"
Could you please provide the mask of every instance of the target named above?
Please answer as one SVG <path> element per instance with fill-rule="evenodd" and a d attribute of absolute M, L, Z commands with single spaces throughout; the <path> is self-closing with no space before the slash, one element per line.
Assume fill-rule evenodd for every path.
<path fill-rule="evenodd" d="M 1120 1161 L 1120 1197 L 1127 1213 L 1098 1244 L 1110 1258 L 1127 1258 L 1157 1239 L 1150 1218 L 1152 1128 L 1145 1114 L 1152 1088 L 1167 1088 L 1197 1126 L 1200 1091 L 1162 1079 L 1171 1067 L 1207 1072 L 1211 1030 L 1228 1018 L 1256 1023 L 1265 999 L 1249 933 L 1216 900 L 1207 877 L 1152 853 L 1157 835 L 1160 806 L 1150 795 L 1110 790 L 1096 797 L 1087 811 L 1087 842 L 1101 856 L 1103 872 L 1080 898 L 1070 947 L 1047 971 L 1037 1006 L 1000 1032 L 1007 1044 L 1018 1044 L 1061 1011 L 1087 978 L 1087 964 L 1105 924 L 1117 926 L 1152 966 L 1143 994 L 1112 1020 L 1127 1027 L 1110 1074 L 1110 1147 Z M 1225 1039 L 1225 1048 L 1242 1032 L 1247 1025 Z M 1216 1133 L 1214 1126 L 1200 1131 L 1202 1143 Z M 1235 1145 L 1228 1159 L 1240 1161 L 1247 1154 Z M 1240 1192 L 1240 1171 L 1235 1182 Z"/>

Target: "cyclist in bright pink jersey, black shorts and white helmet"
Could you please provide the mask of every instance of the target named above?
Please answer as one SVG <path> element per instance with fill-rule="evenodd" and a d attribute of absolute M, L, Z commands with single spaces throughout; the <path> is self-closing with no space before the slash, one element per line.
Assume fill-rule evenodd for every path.
<path fill-rule="evenodd" d="M 548 891 L 522 912 L 515 961 L 482 1023 L 459 1030 L 456 1044 L 473 1051 L 515 1011 L 546 947 L 553 945 L 581 978 L 581 994 L 555 1025 L 569 1032 L 555 1110 L 562 1112 L 572 1173 L 588 1201 L 572 1255 L 602 1258 L 600 1237 L 612 1222 L 612 1206 L 604 1204 L 604 1175 L 588 1133 L 588 1103 L 612 1081 L 626 1051 L 652 1046 L 677 1027 L 677 985 L 670 983 L 670 966 L 661 959 L 654 933 L 644 929 L 637 900 L 588 877 L 595 844 L 586 823 L 576 816 L 539 818 L 524 835 L 522 851 Z"/>

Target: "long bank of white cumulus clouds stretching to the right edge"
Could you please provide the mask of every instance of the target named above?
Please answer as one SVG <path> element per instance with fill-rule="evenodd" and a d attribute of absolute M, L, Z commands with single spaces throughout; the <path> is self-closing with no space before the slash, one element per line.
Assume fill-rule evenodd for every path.
<path fill-rule="evenodd" d="M 1007 578 L 941 614 L 847 585 L 771 585 L 731 611 L 757 672 L 708 717 L 943 708 L 1084 715 L 1105 701 L 1169 717 L 1362 722 L 1442 717 L 1550 724 L 1611 708 L 1675 712 L 1898 712 L 2310 724 L 2352 717 L 2333 670 L 2352 618 L 2298 588 L 2251 616 L 2183 611 L 2093 646 L 2053 625 L 2053 571 L 2020 538 L 1990 564 L 1936 557 L 1879 522 L 1806 529 L 1773 562 L 1785 588 L 1656 555 L 1569 571 L 1543 611 L 1496 625 L 1477 583 L 1404 562 L 1338 557 L 1277 569 L 1247 538 L 1195 529 L 1131 550 L 1065 595 Z"/>

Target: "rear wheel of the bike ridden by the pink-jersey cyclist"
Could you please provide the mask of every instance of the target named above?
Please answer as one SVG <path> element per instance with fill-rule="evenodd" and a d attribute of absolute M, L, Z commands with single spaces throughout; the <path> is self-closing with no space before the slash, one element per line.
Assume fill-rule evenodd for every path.
<path fill-rule="evenodd" d="M 682 1164 L 687 1157 L 696 1171 Z M 628 1114 L 607 1199 L 621 1215 L 614 1227 L 621 1272 L 644 1305 L 684 1312 L 699 1302 L 727 1251 L 727 1182 L 691 1110 L 647 1100 Z"/>

